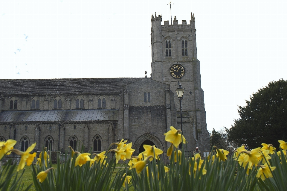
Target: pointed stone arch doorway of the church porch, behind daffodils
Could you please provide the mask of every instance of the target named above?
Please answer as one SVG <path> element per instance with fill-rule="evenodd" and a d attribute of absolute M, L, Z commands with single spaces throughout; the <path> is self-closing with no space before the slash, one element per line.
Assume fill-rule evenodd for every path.
<path fill-rule="evenodd" d="M 133 148 L 135 149 L 134 154 L 138 155 L 142 151 L 144 151 L 143 145 L 155 145 L 156 148 L 161 149 L 164 151 L 164 146 L 162 145 L 161 141 L 153 134 L 146 133 L 138 137 L 138 139 L 135 141 L 135 144 L 133 144 Z M 166 152 L 166 151 L 164 151 Z M 163 154 L 160 155 L 160 159 L 163 159 Z"/>

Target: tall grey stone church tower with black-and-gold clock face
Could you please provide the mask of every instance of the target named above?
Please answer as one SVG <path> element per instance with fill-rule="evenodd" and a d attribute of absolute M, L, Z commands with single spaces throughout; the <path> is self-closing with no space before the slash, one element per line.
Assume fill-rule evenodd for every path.
<path fill-rule="evenodd" d="M 156 81 L 170 84 L 175 92 L 178 84 L 185 88 L 182 99 L 183 134 L 187 139 L 187 150 L 193 151 L 198 146 L 201 153 L 210 150 L 209 132 L 206 127 L 204 94 L 201 89 L 200 64 L 196 51 L 195 17 L 190 24 L 186 20 L 178 24 L 176 16 L 173 23 L 164 21 L 161 15 L 153 16 L 151 28 L 152 74 Z M 175 94 L 177 109 L 177 129 L 181 128 L 179 100 Z"/>

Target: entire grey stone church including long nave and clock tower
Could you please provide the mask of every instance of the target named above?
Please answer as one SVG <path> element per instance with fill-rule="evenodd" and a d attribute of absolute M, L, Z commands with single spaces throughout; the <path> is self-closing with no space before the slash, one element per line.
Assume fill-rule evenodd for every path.
<path fill-rule="evenodd" d="M 210 150 L 204 94 L 196 51 L 195 17 L 189 24 L 151 17 L 152 74 L 144 78 L 76 78 L 0 80 L 0 141 L 14 139 L 25 151 L 46 146 L 51 151 L 107 150 L 121 139 L 132 142 L 134 154 L 155 145 L 166 157 L 164 133 L 181 129 L 175 90 L 185 88 L 182 131 L 187 151 Z M 78 144 L 80 143 L 80 144 Z"/>

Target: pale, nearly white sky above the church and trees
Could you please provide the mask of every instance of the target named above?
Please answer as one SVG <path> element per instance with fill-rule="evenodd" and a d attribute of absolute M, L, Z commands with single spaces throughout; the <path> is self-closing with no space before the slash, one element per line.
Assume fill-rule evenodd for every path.
<path fill-rule="evenodd" d="M 0 79 L 149 75 L 151 14 L 170 20 L 169 2 L 1 0 Z M 195 14 L 209 131 L 230 128 L 253 92 L 287 79 L 286 5 L 172 1 L 178 24 Z"/>

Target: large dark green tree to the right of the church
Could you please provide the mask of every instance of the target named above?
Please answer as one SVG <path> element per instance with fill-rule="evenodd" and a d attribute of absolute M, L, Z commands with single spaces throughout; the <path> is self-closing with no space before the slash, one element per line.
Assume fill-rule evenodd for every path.
<path fill-rule="evenodd" d="M 261 143 L 273 144 L 287 139 L 287 81 L 279 80 L 252 93 L 246 106 L 238 109 L 239 119 L 225 129 L 228 139 L 256 148 Z"/>

